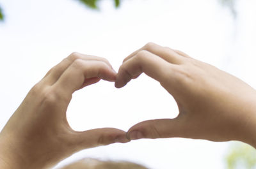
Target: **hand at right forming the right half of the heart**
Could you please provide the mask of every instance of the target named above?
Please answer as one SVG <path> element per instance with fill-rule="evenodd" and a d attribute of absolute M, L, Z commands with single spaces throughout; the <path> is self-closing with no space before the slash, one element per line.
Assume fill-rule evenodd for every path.
<path fill-rule="evenodd" d="M 172 94 L 179 115 L 132 126 L 127 133 L 132 140 L 183 137 L 256 146 L 256 92 L 243 81 L 183 52 L 148 43 L 124 59 L 116 87 L 143 72 Z"/>

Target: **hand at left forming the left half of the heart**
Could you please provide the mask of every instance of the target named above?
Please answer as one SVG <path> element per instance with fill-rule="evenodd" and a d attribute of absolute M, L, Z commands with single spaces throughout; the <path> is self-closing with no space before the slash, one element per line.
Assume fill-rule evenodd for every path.
<path fill-rule="evenodd" d="M 71 54 L 36 84 L 0 133 L 0 168 L 49 168 L 74 152 L 128 142 L 119 129 L 77 132 L 66 118 L 72 93 L 100 79 L 114 82 L 106 59 Z M 90 115 L 90 112 L 87 112 Z"/>

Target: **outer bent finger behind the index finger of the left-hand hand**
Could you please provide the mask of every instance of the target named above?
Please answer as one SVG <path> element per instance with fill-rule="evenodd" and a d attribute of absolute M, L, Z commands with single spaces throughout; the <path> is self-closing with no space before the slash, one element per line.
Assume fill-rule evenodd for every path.
<path fill-rule="evenodd" d="M 97 57 L 93 55 L 84 55 L 84 54 L 79 54 L 77 52 L 73 52 L 70 54 L 67 58 L 63 59 L 59 64 L 54 66 L 50 71 L 47 72 L 45 75 L 45 81 L 49 84 L 52 85 L 54 84 L 58 78 L 62 75 L 62 73 L 72 64 L 72 62 L 76 61 L 76 59 L 83 59 L 85 61 L 102 61 L 108 64 L 110 68 L 112 68 L 111 64 L 109 61 L 105 58 L 102 57 Z M 112 68 L 113 69 L 113 68 Z"/>

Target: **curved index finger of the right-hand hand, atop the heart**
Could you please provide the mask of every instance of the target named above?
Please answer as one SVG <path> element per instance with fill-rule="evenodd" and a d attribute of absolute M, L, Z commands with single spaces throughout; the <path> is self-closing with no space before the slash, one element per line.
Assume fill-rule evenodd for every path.
<path fill-rule="evenodd" d="M 115 86 L 117 88 L 123 87 L 132 78 L 138 77 L 143 72 L 149 77 L 163 82 L 164 79 L 172 77 L 170 71 L 172 72 L 172 64 L 147 50 L 141 50 L 120 66 Z"/>

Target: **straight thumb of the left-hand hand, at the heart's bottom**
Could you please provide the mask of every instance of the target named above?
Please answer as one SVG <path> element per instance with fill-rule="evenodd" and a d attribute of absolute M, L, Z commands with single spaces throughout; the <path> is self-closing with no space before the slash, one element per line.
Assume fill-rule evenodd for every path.
<path fill-rule="evenodd" d="M 90 129 L 88 131 L 74 131 L 72 134 L 72 143 L 79 149 L 88 149 L 110 143 L 126 143 L 130 140 L 126 132 L 115 128 Z"/>

